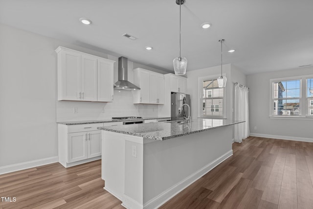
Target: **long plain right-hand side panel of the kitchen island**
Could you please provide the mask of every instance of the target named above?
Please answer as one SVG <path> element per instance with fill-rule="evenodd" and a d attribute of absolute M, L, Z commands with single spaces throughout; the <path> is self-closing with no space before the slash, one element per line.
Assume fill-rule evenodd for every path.
<path fill-rule="evenodd" d="M 232 126 L 143 147 L 143 205 L 156 208 L 232 155 Z"/>

